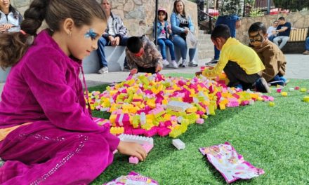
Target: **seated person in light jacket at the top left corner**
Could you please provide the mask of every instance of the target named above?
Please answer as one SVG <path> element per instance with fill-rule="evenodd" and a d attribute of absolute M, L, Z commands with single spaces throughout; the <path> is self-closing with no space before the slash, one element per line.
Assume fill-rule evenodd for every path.
<path fill-rule="evenodd" d="M 22 15 L 10 4 L 10 1 L 0 2 L 0 33 L 20 32 Z"/>

